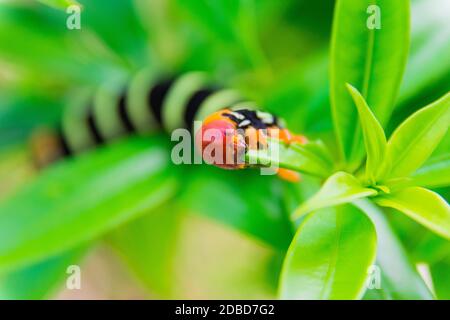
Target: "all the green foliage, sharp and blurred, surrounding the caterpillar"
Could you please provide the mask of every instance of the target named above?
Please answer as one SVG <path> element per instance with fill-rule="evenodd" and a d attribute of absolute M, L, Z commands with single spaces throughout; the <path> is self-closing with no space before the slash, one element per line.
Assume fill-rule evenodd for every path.
<path fill-rule="evenodd" d="M 311 136 L 304 146 L 271 140 L 268 150 L 246 155 L 249 161 L 297 170 L 303 181 L 289 185 L 256 172 L 174 166 L 166 136 L 124 139 L 62 162 L 19 185 L 0 204 L 1 298 L 51 296 L 67 265 L 78 263 L 98 242 L 112 247 L 153 294 L 185 297 L 175 248 L 192 212 L 264 247 L 251 247 L 246 252 L 251 267 L 239 269 L 254 282 L 241 287 L 233 282 L 235 291 L 219 297 L 273 297 L 277 290 L 280 298 L 293 299 L 450 297 L 445 285 L 450 209 L 443 198 L 450 184 L 450 94 L 435 102 L 428 98 L 448 92 L 442 86 L 448 83 L 448 68 L 434 66 L 439 72 L 430 79 L 426 70 L 419 72 L 420 61 L 406 66 L 409 1 L 376 1 L 381 29 L 371 30 L 366 9 L 372 1 L 338 0 L 329 81 L 326 31 L 315 43 L 310 34 L 317 25 L 285 17 L 300 2 L 169 1 L 166 10 L 152 1 L 112 1 L 107 8 L 102 1 L 79 2 L 87 33 L 61 32 L 64 15 L 41 6 L 36 14 L 14 7 L 0 11 L 0 57 L 22 67 L 13 68 L 17 83 L 1 91 L 3 101 L 11 101 L 0 111 L 5 163 L 22 156 L 25 139 L 38 125 L 58 121 L 61 101 L 74 83 L 90 88 L 141 66 L 164 65 L 216 70 L 224 82 L 285 116 L 289 128 Z M 321 8 L 305 3 L 308 15 L 323 17 Z M 129 23 L 108 23 L 115 16 Z M 257 30 L 256 21 L 271 22 Z M 283 42 L 272 24 L 276 33 L 310 46 Z M 14 37 L 5 31 L 12 27 Z M 445 60 L 450 48 L 426 41 L 441 27 L 413 32 L 410 60 L 420 60 L 423 48 L 433 63 Z M 29 41 L 25 45 L 16 38 Z M 42 73 L 52 77 L 41 80 Z M 12 124 L 21 130 L 10 130 Z M 279 149 L 278 158 L 271 157 L 273 148 Z M 8 168 L 0 171 L 4 181 L 9 181 Z M 398 212 L 418 224 L 402 220 Z M 195 223 L 188 229 L 199 230 Z M 203 242 L 213 242 L 221 230 L 208 234 L 204 229 L 201 237 L 209 241 Z M 222 253 L 215 242 L 211 252 Z M 223 261 L 221 273 L 237 260 L 233 255 L 216 259 Z M 434 292 L 411 261 L 430 266 Z M 381 270 L 381 289 L 366 290 L 374 264 Z M 220 282 L 218 275 L 211 278 Z M 246 277 L 230 275 L 236 278 Z M 255 283 L 257 289 L 249 289 Z"/>

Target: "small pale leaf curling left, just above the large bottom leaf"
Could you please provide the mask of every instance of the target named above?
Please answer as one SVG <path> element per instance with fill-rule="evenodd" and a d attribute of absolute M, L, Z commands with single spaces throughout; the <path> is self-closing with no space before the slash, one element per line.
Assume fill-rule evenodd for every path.
<path fill-rule="evenodd" d="M 376 190 L 363 187 L 351 174 L 336 172 L 325 181 L 319 192 L 295 210 L 293 218 L 298 219 L 311 211 L 352 202 L 376 194 Z"/>

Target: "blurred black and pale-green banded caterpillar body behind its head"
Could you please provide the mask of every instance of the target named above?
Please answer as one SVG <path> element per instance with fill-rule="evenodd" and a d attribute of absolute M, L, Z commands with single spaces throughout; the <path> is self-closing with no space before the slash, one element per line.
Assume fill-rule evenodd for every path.
<path fill-rule="evenodd" d="M 127 84 L 111 81 L 69 106 L 56 134 L 33 139 L 36 162 L 76 155 L 126 134 L 191 129 L 194 120 L 241 101 L 236 91 L 212 86 L 202 72 L 157 77 L 144 70 Z"/>

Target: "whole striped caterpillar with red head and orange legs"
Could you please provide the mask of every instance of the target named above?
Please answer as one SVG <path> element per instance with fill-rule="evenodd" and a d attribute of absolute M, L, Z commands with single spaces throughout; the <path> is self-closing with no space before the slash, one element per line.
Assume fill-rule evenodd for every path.
<path fill-rule="evenodd" d="M 276 133 L 287 143 L 306 141 L 303 136 L 293 135 L 284 128 L 281 119 L 257 110 L 255 104 L 244 100 L 238 92 L 212 85 L 202 72 L 156 77 L 144 70 L 126 85 L 110 84 L 81 100 L 64 112 L 56 133 L 41 131 L 32 139 L 33 158 L 38 167 L 127 134 L 149 134 L 158 130 L 170 133 L 177 128 L 192 131 L 194 121 L 203 121 L 196 134 L 199 150 L 217 143 L 233 152 L 264 148 L 267 134 L 261 133 L 263 129 L 268 136 Z M 218 130 L 223 139 L 207 139 L 204 132 L 208 129 Z M 232 143 L 226 144 L 229 130 L 235 133 Z M 256 141 L 256 144 L 250 145 L 249 141 Z M 245 167 L 233 162 L 226 165 L 207 162 L 226 169 Z M 298 175 L 289 170 L 279 169 L 278 174 L 289 181 L 298 180 Z"/>

